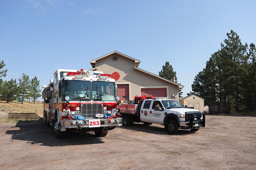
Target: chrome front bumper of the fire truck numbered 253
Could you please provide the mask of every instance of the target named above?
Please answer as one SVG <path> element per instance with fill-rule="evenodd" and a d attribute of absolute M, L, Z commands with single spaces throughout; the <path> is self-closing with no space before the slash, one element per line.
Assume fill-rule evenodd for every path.
<path fill-rule="evenodd" d="M 111 119 L 109 122 L 108 119 L 84 119 L 84 120 L 61 120 L 61 125 L 64 128 L 95 128 L 89 127 L 89 120 L 100 120 L 100 124 L 98 127 L 113 127 L 113 126 L 121 126 L 122 118 Z M 97 128 L 97 127 L 96 127 Z"/>

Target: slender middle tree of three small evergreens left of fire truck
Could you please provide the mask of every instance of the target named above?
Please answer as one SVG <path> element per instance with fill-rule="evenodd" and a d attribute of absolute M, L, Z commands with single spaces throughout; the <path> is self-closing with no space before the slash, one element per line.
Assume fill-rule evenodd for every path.
<path fill-rule="evenodd" d="M 24 73 L 22 77 L 19 79 L 19 89 L 21 96 L 21 103 L 23 104 L 24 98 L 29 97 L 29 89 L 30 89 L 30 80 L 29 76 L 26 76 Z"/>

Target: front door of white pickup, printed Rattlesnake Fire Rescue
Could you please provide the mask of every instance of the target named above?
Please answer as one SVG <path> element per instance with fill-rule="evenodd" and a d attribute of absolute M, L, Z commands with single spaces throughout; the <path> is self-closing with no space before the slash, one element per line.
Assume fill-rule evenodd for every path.
<path fill-rule="evenodd" d="M 164 124 L 165 111 L 160 101 L 154 101 L 150 109 L 150 122 Z"/>

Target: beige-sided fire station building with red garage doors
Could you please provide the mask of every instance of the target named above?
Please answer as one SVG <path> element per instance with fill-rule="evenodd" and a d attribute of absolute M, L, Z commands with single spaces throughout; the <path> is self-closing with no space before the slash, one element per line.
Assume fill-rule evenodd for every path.
<path fill-rule="evenodd" d="M 140 69 L 140 63 L 138 59 L 113 51 L 90 61 L 92 66 L 90 71 L 111 74 L 116 80 L 117 96 L 120 100 L 133 100 L 136 95 L 157 97 L 174 95 L 175 99 L 179 100 L 179 88 L 183 88 L 183 85 Z"/>

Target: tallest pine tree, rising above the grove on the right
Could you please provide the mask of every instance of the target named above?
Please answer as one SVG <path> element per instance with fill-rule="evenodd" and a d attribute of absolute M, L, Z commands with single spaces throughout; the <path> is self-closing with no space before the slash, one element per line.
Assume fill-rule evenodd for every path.
<path fill-rule="evenodd" d="M 234 97 L 235 110 L 243 109 L 241 96 L 242 75 L 244 75 L 245 65 L 248 61 L 247 49 L 248 45 L 243 45 L 237 33 L 233 30 L 227 33 L 228 38 L 224 40 L 225 44 L 221 44 L 222 57 L 224 58 L 226 67 L 223 70 L 225 80 L 225 92 Z"/>

